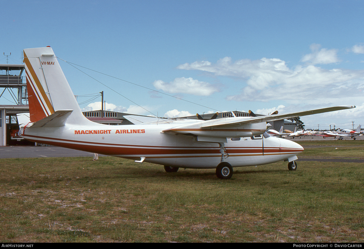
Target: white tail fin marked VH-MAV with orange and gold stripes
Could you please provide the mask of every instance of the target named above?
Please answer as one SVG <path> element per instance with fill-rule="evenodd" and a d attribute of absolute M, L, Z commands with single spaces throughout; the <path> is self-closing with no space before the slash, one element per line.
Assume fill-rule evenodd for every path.
<path fill-rule="evenodd" d="M 24 49 L 24 63 L 31 122 L 55 111 L 73 110 L 67 123 L 90 124 L 91 121 L 82 114 L 51 47 Z"/>

